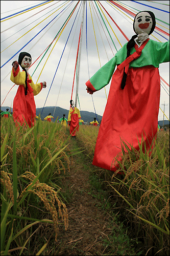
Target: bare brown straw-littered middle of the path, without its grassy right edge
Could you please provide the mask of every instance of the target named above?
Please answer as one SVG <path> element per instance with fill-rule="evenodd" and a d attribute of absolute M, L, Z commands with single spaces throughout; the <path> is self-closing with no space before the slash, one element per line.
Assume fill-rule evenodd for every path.
<path fill-rule="evenodd" d="M 76 141 L 72 141 L 72 144 L 77 146 Z M 74 156 L 70 177 L 63 181 L 70 193 L 67 205 L 69 226 L 67 231 L 62 228 L 59 233 L 58 246 L 61 247 L 56 255 L 103 255 L 107 249 L 103 240 L 111 232 L 108 223 L 112 218 L 98 207 L 103 202 L 93 195 L 94 188 L 89 181 L 91 163 L 88 160 L 84 163 L 82 154 Z"/>

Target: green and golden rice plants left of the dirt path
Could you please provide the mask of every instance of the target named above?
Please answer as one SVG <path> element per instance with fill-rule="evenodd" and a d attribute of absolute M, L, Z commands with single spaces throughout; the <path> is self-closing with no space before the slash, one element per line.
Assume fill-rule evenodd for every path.
<path fill-rule="evenodd" d="M 1 255 L 11 250 L 21 255 L 35 231 L 34 225 L 37 230 L 39 223 L 52 224 L 56 238 L 62 220 L 67 227 L 67 209 L 57 184 L 57 177 L 69 169 L 67 140 L 56 123 L 38 120 L 31 129 L 17 131 L 12 118 L 2 118 Z M 40 251 L 45 247 L 46 243 Z"/>

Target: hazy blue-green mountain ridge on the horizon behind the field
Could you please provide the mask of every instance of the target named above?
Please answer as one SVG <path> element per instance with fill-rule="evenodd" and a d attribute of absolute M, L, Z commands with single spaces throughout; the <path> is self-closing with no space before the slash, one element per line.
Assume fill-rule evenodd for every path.
<path fill-rule="evenodd" d="M 6 109 L 9 109 L 10 110 L 10 107 L 9 106 L 2 106 L 1 107 L 1 110 L 2 111 L 6 111 Z M 39 116 L 39 114 L 41 114 L 42 112 L 42 109 L 43 108 L 38 108 L 36 109 L 36 115 Z M 54 110 L 55 110 L 55 113 L 54 113 Z M 13 109 L 11 109 L 11 112 L 13 112 Z M 66 110 L 66 109 L 62 109 L 60 108 L 59 106 L 56 106 L 56 109 L 55 109 L 55 106 L 45 106 L 44 109 L 43 109 L 43 112 L 42 112 L 42 115 L 41 115 L 41 119 L 43 120 L 44 117 L 46 117 L 48 114 L 52 114 L 52 116 L 54 117 L 54 119 L 52 119 L 52 121 L 56 121 L 56 119 L 60 119 L 61 117 L 63 117 L 63 114 L 65 114 L 65 117 L 68 118 L 68 112 L 69 110 Z M 88 111 L 80 111 L 80 115 L 81 115 L 81 119 L 84 121 L 84 122 L 91 122 L 94 120 L 94 117 L 95 117 L 95 113 L 93 112 L 88 112 Z M 98 121 L 100 122 L 102 120 L 102 116 L 96 114 L 97 118 L 98 118 Z"/>

